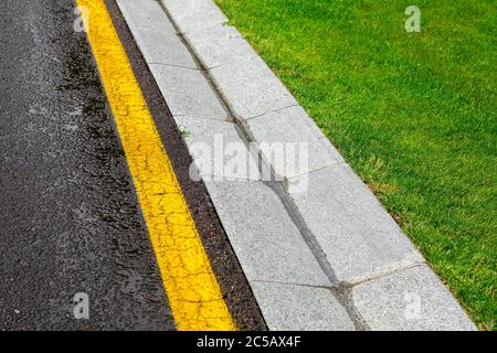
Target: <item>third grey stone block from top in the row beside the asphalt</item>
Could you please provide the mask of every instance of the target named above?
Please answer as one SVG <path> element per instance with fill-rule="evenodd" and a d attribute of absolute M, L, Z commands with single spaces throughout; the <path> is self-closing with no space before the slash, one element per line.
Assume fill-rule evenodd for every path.
<path fill-rule="evenodd" d="M 199 175 L 204 180 L 261 180 L 257 159 L 252 156 L 229 121 L 176 116 Z"/>

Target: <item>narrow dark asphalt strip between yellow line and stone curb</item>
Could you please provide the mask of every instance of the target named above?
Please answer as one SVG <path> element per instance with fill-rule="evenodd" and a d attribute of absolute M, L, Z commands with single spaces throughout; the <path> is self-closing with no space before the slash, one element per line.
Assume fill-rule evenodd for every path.
<path fill-rule="evenodd" d="M 231 248 L 226 234 L 202 182 L 189 176 L 191 158 L 171 113 L 145 63 L 136 42 L 114 0 L 106 0 L 135 76 L 154 116 L 169 159 L 179 179 L 209 259 L 225 295 L 229 309 L 241 330 L 266 330 L 252 290 Z"/>

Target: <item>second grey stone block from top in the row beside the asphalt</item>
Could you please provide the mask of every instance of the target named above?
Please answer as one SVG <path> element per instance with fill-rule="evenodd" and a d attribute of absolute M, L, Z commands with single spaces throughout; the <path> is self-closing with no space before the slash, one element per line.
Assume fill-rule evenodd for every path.
<path fill-rule="evenodd" d="M 149 67 L 173 116 L 228 119 L 228 113 L 200 71 L 160 64 Z"/>

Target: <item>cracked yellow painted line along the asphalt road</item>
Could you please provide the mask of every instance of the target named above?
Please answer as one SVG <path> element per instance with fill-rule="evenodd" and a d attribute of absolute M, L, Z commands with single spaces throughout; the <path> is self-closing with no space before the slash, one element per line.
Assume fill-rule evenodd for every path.
<path fill-rule="evenodd" d="M 85 7 L 87 35 L 147 222 L 178 330 L 234 330 L 209 258 L 103 0 Z"/>

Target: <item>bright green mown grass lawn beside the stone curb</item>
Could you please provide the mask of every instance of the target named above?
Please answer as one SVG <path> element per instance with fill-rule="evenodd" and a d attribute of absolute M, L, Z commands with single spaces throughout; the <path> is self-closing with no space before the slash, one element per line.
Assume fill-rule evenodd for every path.
<path fill-rule="evenodd" d="M 218 0 L 482 330 L 496 330 L 495 0 Z M 422 32 L 406 33 L 415 3 Z"/>

